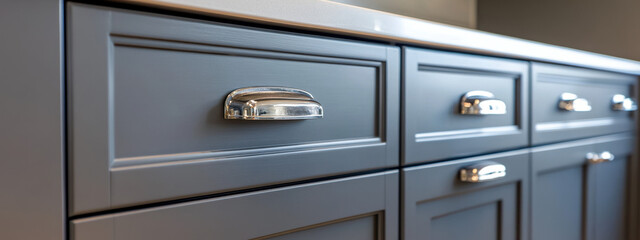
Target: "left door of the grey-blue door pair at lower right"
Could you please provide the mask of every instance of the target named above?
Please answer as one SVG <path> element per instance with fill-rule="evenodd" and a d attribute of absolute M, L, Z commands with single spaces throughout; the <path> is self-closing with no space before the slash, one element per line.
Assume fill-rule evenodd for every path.
<path fill-rule="evenodd" d="M 588 144 L 535 148 L 532 154 L 532 239 L 583 239 Z"/>

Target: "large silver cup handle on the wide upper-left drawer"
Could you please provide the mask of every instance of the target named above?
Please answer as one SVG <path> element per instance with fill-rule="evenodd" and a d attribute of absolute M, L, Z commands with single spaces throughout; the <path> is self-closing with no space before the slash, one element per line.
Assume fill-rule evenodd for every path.
<path fill-rule="evenodd" d="M 229 93 L 224 103 L 225 119 L 303 120 L 322 117 L 322 105 L 309 92 L 295 88 L 240 88 Z"/>

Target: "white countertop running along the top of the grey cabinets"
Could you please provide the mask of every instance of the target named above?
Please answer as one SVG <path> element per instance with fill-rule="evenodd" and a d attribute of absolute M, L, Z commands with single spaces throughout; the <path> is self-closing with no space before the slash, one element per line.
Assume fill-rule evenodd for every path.
<path fill-rule="evenodd" d="M 216 17 L 640 75 L 640 62 L 327 0 L 118 0 Z"/>

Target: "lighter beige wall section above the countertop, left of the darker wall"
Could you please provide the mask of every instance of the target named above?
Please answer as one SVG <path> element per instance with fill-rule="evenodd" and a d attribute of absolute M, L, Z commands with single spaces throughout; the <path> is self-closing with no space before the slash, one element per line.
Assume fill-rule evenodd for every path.
<path fill-rule="evenodd" d="M 467 28 L 476 27 L 476 0 L 333 0 Z"/>

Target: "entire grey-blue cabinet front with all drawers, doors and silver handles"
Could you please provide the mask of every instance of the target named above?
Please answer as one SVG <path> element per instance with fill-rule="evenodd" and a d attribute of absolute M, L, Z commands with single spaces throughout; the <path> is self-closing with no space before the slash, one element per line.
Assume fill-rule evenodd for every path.
<path fill-rule="evenodd" d="M 631 236 L 634 76 L 67 7 L 74 240 Z"/>

